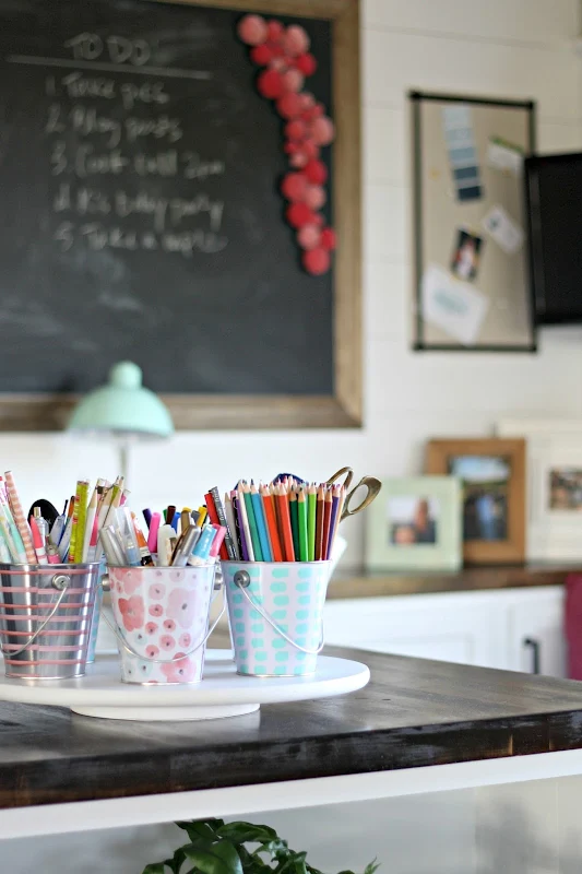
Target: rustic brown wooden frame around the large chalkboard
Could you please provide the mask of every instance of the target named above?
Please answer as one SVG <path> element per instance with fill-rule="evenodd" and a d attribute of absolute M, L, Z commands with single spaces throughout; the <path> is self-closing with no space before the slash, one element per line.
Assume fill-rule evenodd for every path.
<path fill-rule="evenodd" d="M 167 1 L 167 0 L 166 0 Z M 169 0 L 332 22 L 334 391 L 329 395 L 166 394 L 178 429 L 361 426 L 361 205 L 359 0 Z M 158 0 L 151 0 L 158 2 Z M 0 394 L 0 430 L 58 430 L 75 394 Z"/>

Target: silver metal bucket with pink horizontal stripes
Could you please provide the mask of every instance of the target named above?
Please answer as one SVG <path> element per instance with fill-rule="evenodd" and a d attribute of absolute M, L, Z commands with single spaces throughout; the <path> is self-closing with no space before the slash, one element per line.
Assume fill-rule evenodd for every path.
<path fill-rule="evenodd" d="M 0 564 L 0 643 L 7 676 L 83 676 L 99 577 L 98 563 Z"/>

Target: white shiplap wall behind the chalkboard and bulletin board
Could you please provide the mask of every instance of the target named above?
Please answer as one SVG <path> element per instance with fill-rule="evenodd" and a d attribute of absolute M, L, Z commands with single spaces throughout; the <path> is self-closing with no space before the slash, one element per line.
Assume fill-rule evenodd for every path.
<path fill-rule="evenodd" d="M 285 470 L 323 479 L 420 470 L 431 436 L 486 435 L 507 414 L 582 416 L 582 331 L 542 335 L 538 355 L 413 354 L 411 174 L 406 93 L 412 87 L 538 103 L 539 146 L 582 147 L 578 0 L 363 0 L 365 390 L 361 430 L 181 433 L 132 453 L 138 507 L 195 503 L 239 476 Z M 4 470 L 26 503 L 60 498 L 78 475 L 115 475 L 106 444 L 63 435 L 0 437 Z M 361 517 L 345 523 L 344 564 L 363 556 Z"/>

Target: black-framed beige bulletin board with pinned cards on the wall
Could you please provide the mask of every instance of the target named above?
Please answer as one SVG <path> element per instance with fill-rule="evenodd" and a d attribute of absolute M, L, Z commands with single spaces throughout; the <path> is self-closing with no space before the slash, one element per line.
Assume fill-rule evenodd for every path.
<path fill-rule="evenodd" d="M 535 352 L 523 182 L 535 105 L 409 96 L 415 349 Z"/>

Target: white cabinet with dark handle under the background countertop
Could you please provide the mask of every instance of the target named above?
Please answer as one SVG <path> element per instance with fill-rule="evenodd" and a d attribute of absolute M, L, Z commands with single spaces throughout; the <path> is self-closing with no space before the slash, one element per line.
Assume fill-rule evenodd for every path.
<path fill-rule="evenodd" d="M 328 601 L 328 643 L 565 676 L 561 587 Z M 531 641 L 526 643 L 525 641 Z"/>

